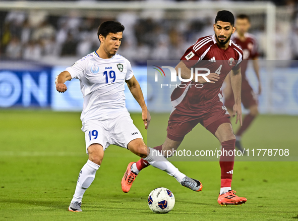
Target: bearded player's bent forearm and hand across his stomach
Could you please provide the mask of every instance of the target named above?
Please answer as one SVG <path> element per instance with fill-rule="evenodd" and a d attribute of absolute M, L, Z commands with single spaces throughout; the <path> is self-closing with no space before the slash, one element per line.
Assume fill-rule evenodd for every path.
<path fill-rule="evenodd" d="M 181 77 L 183 79 L 190 79 L 191 77 L 191 70 L 184 64 L 183 61 L 181 61 L 176 67 L 175 67 L 175 70 L 176 70 L 176 73 L 178 75 L 178 71 L 181 71 Z M 208 78 L 209 81 L 207 81 L 205 78 Z M 199 76 L 198 77 L 198 83 L 200 84 L 205 84 L 205 83 L 215 83 L 216 81 L 218 81 L 219 79 L 219 76 L 218 74 L 216 73 L 210 73 L 209 75 L 205 76 L 205 78 L 203 78 L 202 76 Z M 196 76 L 193 75 L 193 80 L 192 81 L 196 81 Z"/>

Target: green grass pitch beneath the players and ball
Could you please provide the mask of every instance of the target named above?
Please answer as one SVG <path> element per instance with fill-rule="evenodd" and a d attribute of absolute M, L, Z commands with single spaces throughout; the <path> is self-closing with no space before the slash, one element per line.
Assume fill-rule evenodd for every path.
<path fill-rule="evenodd" d="M 165 139 L 167 115 L 152 115 L 152 145 Z M 140 114 L 132 118 L 146 140 Z M 173 162 L 199 179 L 202 192 L 180 186 L 149 167 L 131 191 L 121 190 L 130 151 L 110 146 L 95 181 L 83 198 L 83 212 L 69 212 L 79 171 L 87 160 L 79 113 L 0 111 L 0 220 L 297 220 L 298 162 L 235 162 L 232 187 L 248 198 L 242 206 L 220 206 L 218 162 Z M 254 148 L 298 144 L 294 116 L 259 116 L 243 139 Z M 149 128 L 150 129 L 150 128 Z M 151 133 L 151 132 L 148 132 Z M 148 135 L 149 136 L 149 135 Z M 149 141 L 148 141 L 149 142 Z M 191 143 L 215 149 L 218 141 L 198 125 L 181 148 Z M 147 197 L 157 187 L 170 189 L 175 207 L 167 214 L 149 210 Z"/>

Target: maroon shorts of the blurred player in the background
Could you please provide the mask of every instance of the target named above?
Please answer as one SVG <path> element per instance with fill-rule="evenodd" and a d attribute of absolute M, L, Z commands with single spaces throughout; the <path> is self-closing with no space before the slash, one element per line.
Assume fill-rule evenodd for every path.
<path fill-rule="evenodd" d="M 258 104 L 258 97 L 246 79 L 243 79 L 242 81 L 241 101 L 246 109 L 249 109 L 251 106 Z M 234 94 L 231 93 L 231 95 L 225 99 L 224 105 L 227 108 L 232 109 L 234 104 Z"/>

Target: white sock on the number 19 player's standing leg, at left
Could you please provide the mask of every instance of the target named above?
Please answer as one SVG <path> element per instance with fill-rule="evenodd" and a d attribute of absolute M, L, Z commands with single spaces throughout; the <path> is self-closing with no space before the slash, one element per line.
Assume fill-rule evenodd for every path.
<path fill-rule="evenodd" d="M 88 161 L 80 171 L 77 187 L 72 202 L 82 202 L 83 195 L 86 189 L 90 187 L 91 183 L 93 182 L 95 173 L 99 169 L 99 167 L 100 165 L 97 165 L 96 163 L 88 159 Z"/>

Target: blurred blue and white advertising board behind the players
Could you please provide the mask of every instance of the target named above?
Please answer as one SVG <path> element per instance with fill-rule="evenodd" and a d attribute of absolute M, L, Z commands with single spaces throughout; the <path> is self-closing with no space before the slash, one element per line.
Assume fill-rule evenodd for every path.
<path fill-rule="evenodd" d="M 66 67 L 47 67 L 39 64 L 0 62 L 0 108 L 51 108 L 54 111 L 82 111 L 83 96 L 80 81 L 66 82 L 68 90 L 58 93 L 55 77 Z M 164 89 L 154 84 L 154 76 L 147 76 L 147 67 L 133 67 L 145 101 L 150 111 L 169 113 L 172 109 L 170 94 L 174 88 Z M 259 96 L 259 111 L 262 114 L 298 115 L 298 68 L 281 67 L 261 69 L 262 94 Z M 165 73 L 167 74 L 167 73 Z M 253 69 L 247 70 L 253 89 L 258 82 Z M 167 78 L 161 78 L 161 83 Z M 159 83 L 160 83 L 159 82 Z M 138 102 L 125 84 L 126 106 L 130 112 L 141 112 Z M 243 110 L 244 114 L 246 113 Z"/>

